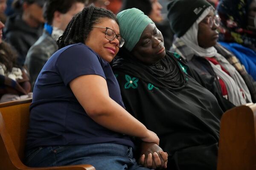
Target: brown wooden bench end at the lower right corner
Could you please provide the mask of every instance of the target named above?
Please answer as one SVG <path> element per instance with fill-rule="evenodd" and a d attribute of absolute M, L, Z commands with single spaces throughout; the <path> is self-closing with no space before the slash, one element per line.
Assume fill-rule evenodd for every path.
<path fill-rule="evenodd" d="M 222 116 L 217 170 L 256 170 L 256 104 Z"/>

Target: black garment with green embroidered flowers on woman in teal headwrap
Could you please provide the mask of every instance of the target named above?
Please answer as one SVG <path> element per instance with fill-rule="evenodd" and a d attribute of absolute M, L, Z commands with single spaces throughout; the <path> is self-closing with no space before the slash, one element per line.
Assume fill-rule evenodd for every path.
<path fill-rule="evenodd" d="M 175 57 L 167 53 L 180 88 L 161 88 L 147 76 L 152 70 L 163 71 L 157 65 L 144 65 L 133 57 L 122 54 L 113 62 L 127 111 L 148 129 L 157 133 L 160 147 L 169 154 L 170 170 L 216 170 L 219 124 L 223 114 L 217 99 L 192 77 L 181 72 Z M 156 73 L 156 71 L 154 71 Z M 168 74 L 168 71 L 166 71 Z M 173 75 L 177 79 L 176 76 Z"/>

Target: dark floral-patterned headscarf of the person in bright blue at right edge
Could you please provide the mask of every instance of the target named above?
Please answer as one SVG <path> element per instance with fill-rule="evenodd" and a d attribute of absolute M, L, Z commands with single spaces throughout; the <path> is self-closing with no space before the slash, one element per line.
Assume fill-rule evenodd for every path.
<path fill-rule="evenodd" d="M 247 30 L 248 8 L 252 0 L 221 0 L 217 10 L 224 30 L 220 41 L 236 42 L 256 50 L 256 32 Z"/>

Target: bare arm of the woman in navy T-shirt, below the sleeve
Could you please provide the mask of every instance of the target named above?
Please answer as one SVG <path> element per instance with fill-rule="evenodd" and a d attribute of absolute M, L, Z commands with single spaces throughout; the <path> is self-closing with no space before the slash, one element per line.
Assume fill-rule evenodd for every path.
<path fill-rule="evenodd" d="M 87 115 L 99 125 L 121 134 L 136 136 L 145 142 L 159 144 L 155 133 L 147 130 L 141 122 L 111 99 L 107 82 L 102 77 L 80 76 L 70 82 L 70 88 Z"/>

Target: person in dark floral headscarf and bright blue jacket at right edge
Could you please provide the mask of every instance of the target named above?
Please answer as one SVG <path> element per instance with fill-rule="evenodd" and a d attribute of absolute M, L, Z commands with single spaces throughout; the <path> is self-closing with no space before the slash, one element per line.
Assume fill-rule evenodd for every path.
<path fill-rule="evenodd" d="M 219 42 L 231 51 L 256 81 L 256 0 L 220 0 Z"/>

